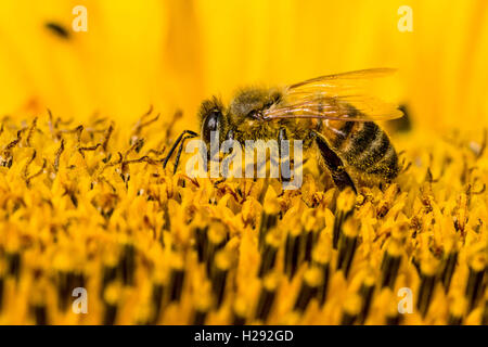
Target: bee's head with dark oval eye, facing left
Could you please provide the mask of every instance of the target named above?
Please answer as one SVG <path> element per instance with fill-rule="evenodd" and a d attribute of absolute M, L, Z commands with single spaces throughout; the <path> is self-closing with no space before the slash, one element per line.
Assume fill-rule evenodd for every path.
<path fill-rule="evenodd" d="M 211 138 L 218 136 L 216 140 L 220 145 L 226 137 L 227 129 L 226 118 L 223 116 L 223 104 L 217 98 L 205 100 L 200 106 L 198 114 L 202 126 L 202 140 L 205 141 L 205 144 L 208 147 L 210 145 Z"/>

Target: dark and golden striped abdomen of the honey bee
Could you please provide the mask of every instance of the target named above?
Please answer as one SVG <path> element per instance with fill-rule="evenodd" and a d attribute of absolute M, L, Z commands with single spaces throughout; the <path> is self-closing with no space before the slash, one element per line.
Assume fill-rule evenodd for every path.
<path fill-rule="evenodd" d="M 398 157 L 388 136 L 372 121 L 324 120 L 322 133 L 349 166 L 386 180 L 398 175 Z"/>

